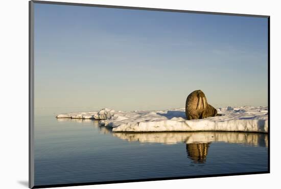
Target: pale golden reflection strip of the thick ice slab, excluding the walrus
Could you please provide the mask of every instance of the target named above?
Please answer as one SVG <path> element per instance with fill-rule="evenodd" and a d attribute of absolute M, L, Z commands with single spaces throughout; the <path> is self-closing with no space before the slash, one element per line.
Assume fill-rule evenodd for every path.
<path fill-rule="evenodd" d="M 212 143 L 225 142 L 267 147 L 268 138 L 264 133 L 248 132 L 221 132 L 221 131 L 196 131 L 196 132 L 113 132 L 113 136 L 139 143 Z"/>

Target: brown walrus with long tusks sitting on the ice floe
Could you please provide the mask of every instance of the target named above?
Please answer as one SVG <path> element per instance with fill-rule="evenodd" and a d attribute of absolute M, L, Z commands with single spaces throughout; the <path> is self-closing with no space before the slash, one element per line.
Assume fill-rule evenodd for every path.
<path fill-rule="evenodd" d="M 195 90 L 186 99 L 185 115 L 188 120 L 204 119 L 206 117 L 214 117 L 218 111 L 209 105 L 206 96 L 202 90 Z"/>

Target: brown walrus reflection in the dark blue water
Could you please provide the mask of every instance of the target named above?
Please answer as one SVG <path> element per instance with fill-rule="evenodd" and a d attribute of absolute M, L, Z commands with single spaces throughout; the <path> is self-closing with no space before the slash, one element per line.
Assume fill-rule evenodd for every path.
<path fill-rule="evenodd" d="M 210 143 L 191 143 L 186 144 L 186 152 L 188 157 L 191 158 L 195 163 L 205 163 L 208 148 Z"/>

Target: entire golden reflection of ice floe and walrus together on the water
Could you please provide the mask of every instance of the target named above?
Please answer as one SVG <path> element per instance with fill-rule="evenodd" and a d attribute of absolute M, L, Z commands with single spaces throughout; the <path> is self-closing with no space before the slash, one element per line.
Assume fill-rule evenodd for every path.
<path fill-rule="evenodd" d="M 250 132 L 223 132 L 223 131 L 197 131 L 197 132 L 112 132 L 112 128 L 99 126 L 96 120 L 57 119 L 58 122 L 90 123 L 99 129 L 102 134 L 111 134 L 127 141 L 138 143 L 161 143 L 174 145 L 186 144 L 188 158 L 194 163 L 205 163 L 210 144 L 224 142 L 258 147 L 268 147 L 268 135 L 265 133 Z"/>

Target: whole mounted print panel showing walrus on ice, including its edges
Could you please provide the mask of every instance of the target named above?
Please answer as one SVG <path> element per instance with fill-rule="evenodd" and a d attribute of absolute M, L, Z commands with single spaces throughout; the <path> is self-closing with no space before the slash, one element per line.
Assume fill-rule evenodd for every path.
<path fill-rule="evenodd" d="M 30 2 L 31 188 L 269 173 L 269 146 L 269 16 Z"/>

